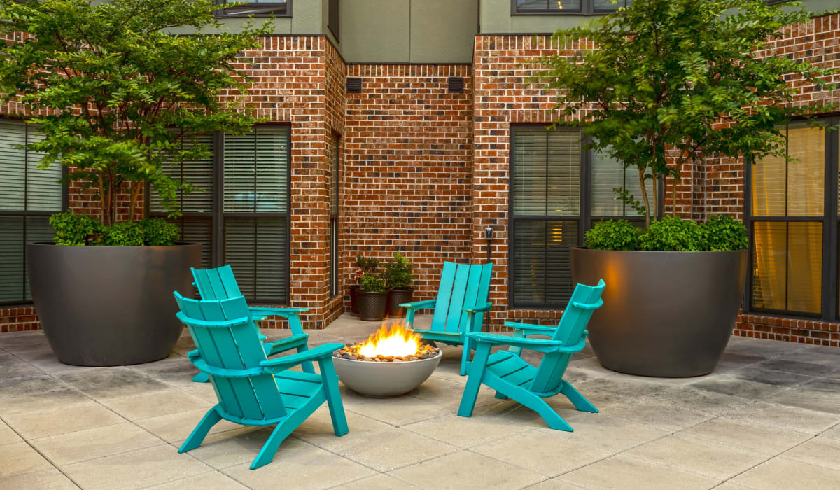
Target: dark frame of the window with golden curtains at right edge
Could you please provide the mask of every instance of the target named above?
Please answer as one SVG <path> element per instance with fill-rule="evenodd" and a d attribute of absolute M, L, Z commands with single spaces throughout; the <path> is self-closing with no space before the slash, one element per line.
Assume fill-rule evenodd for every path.
<path fill-rule="evenodd" d="M 753 165 L 744 164 L 743 194 L 744 194 L 744 224 L 748 229 L 749 236 L 749 261 L 747 272 L 747 285 L 744 291 L 743 308 L 745 313 L 769 313 L 773 316 L 822 319 L 825 321 L 837 321 L 840 319 L 838 311 L 837 291 L 840 289 L 840 271 L 838 271 L 838 240 L 837 229 L 840 216 L 837 213 L 837 179 L 838 161 L 840 161 L 840 131 L 837 125 L 840 124 L 840 115 L 837 113 L 826 114 L 818 118 L 822 124 L 829 128 L 824 129 L 825 138 L 825 161 L 824 161 L 824 195 L 822 218 L 819 216 L 754 216 L 753 215 Z M 801 122 L 803 119 L 792 119 L 790 123 Z M 787 127 L 787 126 L 786 126 Z M 833 129 L 832 129 L 833 128 Z M 785 167 L 785 172 L 787 167 Z M 786 195 L 785 195 L 786 198 Z M 801 312 L 790 309 L 760 308 L 754 305 L 753 301 L 753 270 L 755 254 L 755 225 L 757 223 L 820 223 L 822 224 L 822 278 L 821 278 L 821 308 L 820 313 Z M 785 287 L 788 278 L 785 274 Z"/>

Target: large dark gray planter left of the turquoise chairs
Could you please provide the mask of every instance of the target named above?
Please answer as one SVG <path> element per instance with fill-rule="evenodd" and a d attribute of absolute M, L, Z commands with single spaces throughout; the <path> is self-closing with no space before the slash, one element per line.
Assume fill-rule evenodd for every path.
<path fill-rule="evenodd" d="M 201 245 L 26 245 L 41 326 L 58 360 L 122 366 L 169 356 L 183 325 L 173 291 L 192 296 Z"/>

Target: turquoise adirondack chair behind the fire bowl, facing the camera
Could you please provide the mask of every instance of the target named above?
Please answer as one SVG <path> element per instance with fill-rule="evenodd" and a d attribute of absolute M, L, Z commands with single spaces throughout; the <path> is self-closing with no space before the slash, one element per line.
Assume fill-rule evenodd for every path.
<path fill-rule="evenodd" d="M 461 376 L 466 374 L 466 366 L 470 361 L 472 350 L 472 340 L 466 334 L 481 331 L 484 313 L 490 311 L 493 306 L 492 303 L 487 303 L 492 270 L 493 264 L 470 266 L 444 262 L 437 299 L 400 304 L 406 308 L 406 324 L 412 328 L 414 313 L 418 309 L 434 308 L 431 328 L 414 329 L 414 331 L 423 336 L 423 340 L 433 340 L 448 345 L 464 345 L 464 354 L 461 356 Z"/>

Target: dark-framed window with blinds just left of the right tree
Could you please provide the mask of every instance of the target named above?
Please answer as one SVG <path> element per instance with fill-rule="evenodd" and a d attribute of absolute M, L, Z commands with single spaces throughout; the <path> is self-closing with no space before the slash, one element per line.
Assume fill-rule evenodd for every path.
<path fill-rule="evenodd" d="M 583 244 L 592 222 L 643 221 L 612 191 L 624 187 L 640 198 L 638 174 L 606 155 L 582 151 L 580 129 L 514 127 L 511 133 L 511 303 L 563 308 L 574 286 L 569 250 Z"/>

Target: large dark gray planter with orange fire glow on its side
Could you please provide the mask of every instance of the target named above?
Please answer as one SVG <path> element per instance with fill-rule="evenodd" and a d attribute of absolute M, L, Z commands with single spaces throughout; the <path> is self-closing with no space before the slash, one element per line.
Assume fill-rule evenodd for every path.
<path fill-rule="evenodd" d="M 747 253 L 572 249 L 572 282 L 606 282 L 587 328 L 601 366 L 654 377 L 710 373 L 732 335 Z"/>

